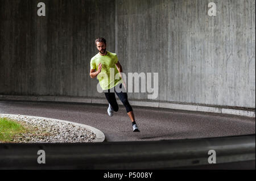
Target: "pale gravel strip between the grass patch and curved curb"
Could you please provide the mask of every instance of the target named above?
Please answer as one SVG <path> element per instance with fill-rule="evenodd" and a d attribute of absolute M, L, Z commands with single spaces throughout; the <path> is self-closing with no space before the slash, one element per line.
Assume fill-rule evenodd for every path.
<path fill-rule="evenodd" d="M 23 133 L 15 137 L 12 142 L 16 143 L 73 143 L 93 142 L 96 139 L 96 134 L 89 129 L 71 123 L 51 119 L 32 119 L 23 115 L 0 114 L 0 117 L 8 117 L 33 130 L 31 133 Z"/>

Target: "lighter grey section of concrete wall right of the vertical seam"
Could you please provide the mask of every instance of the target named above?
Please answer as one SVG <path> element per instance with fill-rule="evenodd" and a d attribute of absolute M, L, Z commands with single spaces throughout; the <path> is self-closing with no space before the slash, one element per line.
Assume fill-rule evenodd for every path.
<path fill-rule="evenodd" d="M 158 72 L 160 101 L 255 107 L 255 1 L 214 2 L 117 0 L 125 72 Z"/>

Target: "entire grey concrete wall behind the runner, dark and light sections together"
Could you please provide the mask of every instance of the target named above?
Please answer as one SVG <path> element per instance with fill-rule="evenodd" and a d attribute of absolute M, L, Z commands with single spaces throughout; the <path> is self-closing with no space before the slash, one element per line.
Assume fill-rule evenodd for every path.
<path fill-rule="evenodd" d="M 36 15 L 45 2 L 46 17 Z M 76 3 L 75 3 L 76 2 Z M 217 16 L 208 16 L 215 2 Z M 255 108 L 255 1 L 0 1 L 0 94 L 104 97 L 106 37 L 125 73 L 159 73 L 158 101 Z M 129 93 L 146 100 L 147 93 Z"/>

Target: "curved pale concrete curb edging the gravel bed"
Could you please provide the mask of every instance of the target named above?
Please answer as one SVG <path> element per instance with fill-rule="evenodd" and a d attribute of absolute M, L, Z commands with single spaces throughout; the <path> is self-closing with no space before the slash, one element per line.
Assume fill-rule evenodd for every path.
<path fill-rule="evenodd" d="M 6 114 L 6 113 L 0 113 L 0 115 L 3 115 L 3 116 L 5 116 L 5 115 L 6 116 L 18 116 L 18 115 Z M 38 118 L 38 119 L 47 119 L 47 120 L 52 120 L 52 121 L 59 121 L 59 122 L 62 122 L 62 123 L 70 123 L 70 124 L 73 124 L 73 125 L 77 125 L 77 126 L 89 129 L 94 134 L 96 134 L 96 139 L 93 140 L 93 142 L 103 142 L 105 140 L 105 134 L 104 133 L 102 133 L 99 129 L 90 127 L 86 124 L 74 123 L 74 122 L 71 122 L 71 121 L 65 121 L 65 120 L 60 120 L 60 119 L 52 119 L 52 118 L 49 118 L 49 117 L 28 116 L 28 115 L 20 115 L 20 116 L 26 116 L 26 117 L 30 117 L 32 119 L 33 118 L 34 119 Z"/>

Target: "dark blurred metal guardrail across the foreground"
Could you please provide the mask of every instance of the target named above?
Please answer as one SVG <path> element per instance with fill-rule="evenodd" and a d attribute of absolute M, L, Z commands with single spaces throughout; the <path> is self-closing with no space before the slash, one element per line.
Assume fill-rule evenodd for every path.
<path fill-rule="evenodd" d="M 42 156 L 38 150 L 45 151 L 46 163 L 38 163 Z M 209 150 L 216 151 L 216 164 L 209 164 Z M 251 161 L 251 169 L 255 169 L 255 134 L 91 144 L 0 144 L 0 169 L 209 169 L 210 165 Z"/>

